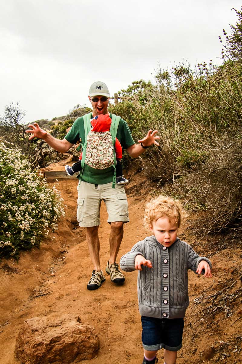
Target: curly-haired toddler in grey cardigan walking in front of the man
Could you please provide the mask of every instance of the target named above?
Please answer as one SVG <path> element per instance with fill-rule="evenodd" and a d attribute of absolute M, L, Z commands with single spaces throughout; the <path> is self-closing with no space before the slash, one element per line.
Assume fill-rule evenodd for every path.
<path fill-rule="evenodd" d="M 144 223 L 153 235 L 139 241 L 120 259 L 121 269 L 139 270 L 143 364 L 157 363 L 156 353 L 161 348 L 165 364 L 176 363 L 189 305 L 188 269 L 212 277 L 210 260 L 177 237 L 184 217 L 178 200 L 165 196 L 152 199 L 146 205 Z"/>

